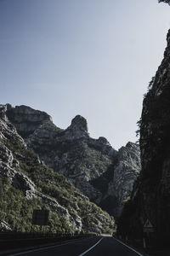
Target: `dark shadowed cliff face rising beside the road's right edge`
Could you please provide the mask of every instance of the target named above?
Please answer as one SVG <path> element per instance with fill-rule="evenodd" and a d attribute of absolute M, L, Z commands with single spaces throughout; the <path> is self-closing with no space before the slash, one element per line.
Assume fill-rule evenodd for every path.
<path fill-rule="evenodd" d="M 142 238 L 144 222 L 150 219 L 152 241 L 169 243 L 170 236 L 170 31 L 161 66 L 144 97 L 140 121 L 142 172 L 131 200 L 124 208 L 119 233 Z M 151 241 L 151 240 L 150 240 Z"/>

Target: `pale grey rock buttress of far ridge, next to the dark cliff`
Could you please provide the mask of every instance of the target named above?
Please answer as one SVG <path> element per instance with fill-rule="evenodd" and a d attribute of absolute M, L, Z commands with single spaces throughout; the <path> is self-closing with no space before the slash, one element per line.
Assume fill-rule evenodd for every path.
<path fill-rule="evenodd" d="M 135 143 L 127 143 L 126 147 L 122 147 L 118 151 L 117 165 L 114 175 L 109 182 L 105 200 L 102 204 L 112 198 L 112 209 L 110 212 L 118 218 L 121 215 L 124 201 L 133 190 L 133 183 L 139 177 L 141 169 L 139 146 Z"/>

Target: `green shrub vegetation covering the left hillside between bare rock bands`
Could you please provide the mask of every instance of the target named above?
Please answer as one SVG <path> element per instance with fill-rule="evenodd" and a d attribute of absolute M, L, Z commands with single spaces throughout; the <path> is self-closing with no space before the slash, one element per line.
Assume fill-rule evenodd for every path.
<path fill-rule="evenodd" d="M 98 227 L 101 233 L 113 233 L 114 219 L 107 212 L 102 211 L 80 191 L 69 183 L 65 177 L 48 166 L 39 163 L 37 154 L 27 150 L 19 141 L 7 140 L 6 146 L 12 151 L 14 160 L 19 161 L 20 169 L 36 184 L 37 190 L 48 198 L 55 199 L 60 206 L 65 207 L 73 219 L 82 219 L 82 232 L 93 231 Z M 52 211 L 48 201 L 40 197 L 27 199 L 24 192 L 14 188 L 7 177 L 0 175 L 0 220 L 6 221 L 12 230 L 39 231 L 38 226 L 31 225 L 33 209 L 50 210 L 47 230 L 59 234 L 74 234 L 76 228 L 67 216 Z"/>

